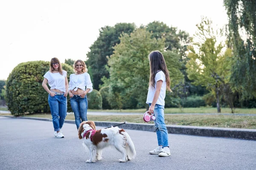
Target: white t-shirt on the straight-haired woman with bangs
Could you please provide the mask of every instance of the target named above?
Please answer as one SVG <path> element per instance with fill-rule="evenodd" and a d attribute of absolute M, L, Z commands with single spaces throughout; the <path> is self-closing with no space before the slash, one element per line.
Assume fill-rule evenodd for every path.
<path fill-rule="evenodd" d="M 50 71 L 47 71 L 46 74 L 44 74 L 44 78 L 48 80 L 48 84 L 52 89 L 58 89 L 60 91 L 66 92 L 65 88 L 65 77 L 67 77 L 67 71 L 62 71 L 62 75 L 58 73 L 52 73 Z"/>

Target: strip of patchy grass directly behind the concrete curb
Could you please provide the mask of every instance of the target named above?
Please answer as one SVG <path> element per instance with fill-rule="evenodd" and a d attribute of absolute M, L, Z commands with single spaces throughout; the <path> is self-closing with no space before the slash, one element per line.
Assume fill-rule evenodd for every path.
<path fill-rule="evenodd" d="M 7 115 L 7 114 L 0 114 Z M 51 114 L 26 114 L 28 117 L 42 117 L 51 119 Z M 107 122 L 130 122 L 145 123 L 142 115 L 124 116 L 93 116 L 87 115 L 88 120 L 107 121 Z M 73 114 L 68 114 L 66 119 L 74 120 Z M 230 127 L 256 129 L 256 116 L 234 116 L 234 115 L 165 115 L 166 125 L 188 125 L 188 126 L 207 126 L 207 127 Z M 153 122 L 149 122 L 153 123 Z"/>

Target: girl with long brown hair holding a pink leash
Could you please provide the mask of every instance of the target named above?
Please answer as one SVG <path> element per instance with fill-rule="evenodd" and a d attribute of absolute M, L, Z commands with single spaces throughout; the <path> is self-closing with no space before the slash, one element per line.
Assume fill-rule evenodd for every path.
<path fill-rule="evenodd" d="M 152 51 L 148 59 L 150 63 L 150 80 L 146 103 L 149 105 L 148 113 L 151 114 L 154 112 L 154 116 L 156 117 L 154 124 L 158 142 L 158 147 L 149 153 L 158 154 L 158 156 L 170 156 L 168 131 L 164 122 L 166 90 L 172 91 L 170 88 L 169 71 L 163 54 L 160 51 Z"/>

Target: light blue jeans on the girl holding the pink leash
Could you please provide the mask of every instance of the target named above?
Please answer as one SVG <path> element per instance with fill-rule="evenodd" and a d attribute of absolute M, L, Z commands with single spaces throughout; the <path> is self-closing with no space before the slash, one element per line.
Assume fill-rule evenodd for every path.
<path fill-rule="evenodd" d="M 151 103 L 149 103 L 149 106 Z M 155 105 L 154 107 L 154 116 L 156 119 L 154 120 L 156 131 L 157 131 L 157 142 L 158 146 L 169 147 L 168 143 L 168 131 L 166 128 L 166 124 L 164 122 L 164 106 Z"/>

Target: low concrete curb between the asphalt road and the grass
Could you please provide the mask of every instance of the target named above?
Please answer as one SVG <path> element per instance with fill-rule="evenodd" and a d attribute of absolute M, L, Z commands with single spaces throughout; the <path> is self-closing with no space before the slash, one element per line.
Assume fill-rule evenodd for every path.
<path fill-rule="evenodd" d="M 33 119 L 42 121 L 52 121 L 52 119 L 38 118 L 38 117 L 14 117 L 3 116 L 17 119 Z M 74 120 L 65 120 L 65 123 L 75 124 Z M 96 126 L 110 127 L 118 125 L 122 122 L 95 122 Z M 131 130 L 143 130 L 154 132 L 153 124 L 146 123 L 127 123 L 119 125 L 120 128 Z M 222 127 L 198 127 L 198 126 L 182 126 L 182 125 L 166 125 L 168 133 L 185 134 L 196 136 L 209 136 L 209 137 L 227 137 L 235 139 L 256 140 L 256 129 L 239 129 L 239 128 L 222 128 Z"/>

